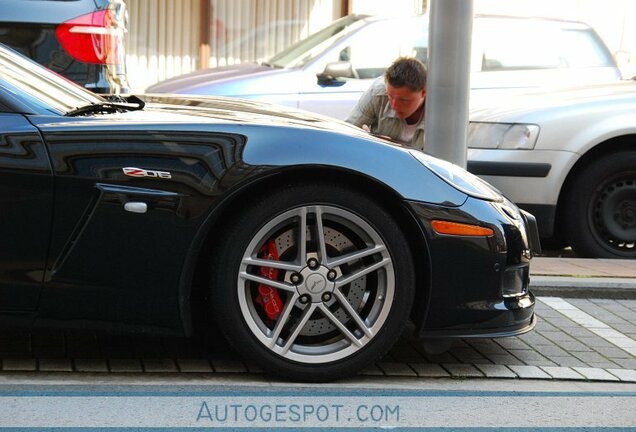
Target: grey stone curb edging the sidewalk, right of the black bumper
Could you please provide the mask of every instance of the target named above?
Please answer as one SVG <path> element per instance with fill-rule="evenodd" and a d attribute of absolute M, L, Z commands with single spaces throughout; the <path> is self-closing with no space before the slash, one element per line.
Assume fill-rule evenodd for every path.
<path fill-rule="evenodd" d="M 538 296 L 634 300 L 636 279 L 531 275 L 530 290 Z"/>

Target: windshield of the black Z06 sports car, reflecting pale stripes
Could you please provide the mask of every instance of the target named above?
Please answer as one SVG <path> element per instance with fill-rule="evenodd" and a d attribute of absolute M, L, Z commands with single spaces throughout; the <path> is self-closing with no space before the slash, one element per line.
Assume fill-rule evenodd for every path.
<path fill-rule="evenodd" d="M 0 44 L 3 88 L 27 105 L 53 113 L 102 103 L 104 100 Z"/>

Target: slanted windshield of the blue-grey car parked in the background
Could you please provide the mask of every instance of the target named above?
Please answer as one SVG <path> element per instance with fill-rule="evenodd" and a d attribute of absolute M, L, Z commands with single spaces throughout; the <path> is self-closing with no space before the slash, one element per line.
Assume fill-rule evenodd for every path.
<path fill-rule="evenodd" d="M 340 18 L 324 29 L 279 52 L 270 58 L 267 63 L 280 68 L 302 66 L 320 55 L 326 47 L 333 44 L 335 39 L 349 33 L 352 28 L 358 27 L 353 26 L 350 28 L 352 24 L 360 22 L 363 18 L 365 17 L 360 15 L 349 15 Z"/>

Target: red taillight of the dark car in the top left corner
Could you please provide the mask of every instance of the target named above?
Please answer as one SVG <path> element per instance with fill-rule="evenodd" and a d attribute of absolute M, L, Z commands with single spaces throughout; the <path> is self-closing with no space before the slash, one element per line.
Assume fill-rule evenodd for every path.
<path fill-rule="evenodd" d="M 84 63 L 120 64 L 124 29 L 111 10 L 100 10 L 60 24 L 55 30 L 62 47 Z M 123 52 L 123 51 L 121 51 Z"/>

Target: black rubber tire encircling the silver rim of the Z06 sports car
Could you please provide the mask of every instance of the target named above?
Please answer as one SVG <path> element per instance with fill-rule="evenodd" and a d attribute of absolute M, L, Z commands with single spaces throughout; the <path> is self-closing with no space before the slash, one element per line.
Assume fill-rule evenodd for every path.
<path fill-rule="evenodd" d="M 249 329 L 238 296 L 238 272 L 243 254 L 259 230 L 277 215 L 295 207 L 329 205 L 348 210 L 366 221 L 382 238 L 391 256 L 395 291 L 391 309 L 378 333 L 356 353 L 330 363 L 305 364 L 266 348 Z M 327 381 L 356 373 L 384 355 L 399 338 L 410 315 L 414 271 L 406 239 L 394 219 L 375 201 L 337 185 L 291 186 L 250 203 L 228 229 L 213 263 L 212 311 L 229 342 L 266 371 L 286 379 Z M 225 269 L 226 271 L 218 271 Z"/>

